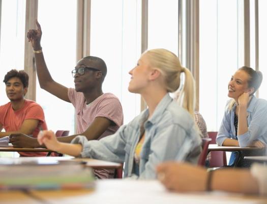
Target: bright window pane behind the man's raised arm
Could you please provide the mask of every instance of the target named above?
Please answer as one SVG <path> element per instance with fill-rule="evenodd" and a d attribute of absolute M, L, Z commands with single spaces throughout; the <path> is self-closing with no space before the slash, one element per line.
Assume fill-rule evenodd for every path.
<path fill-rule="evenodd" d="M 64 0 L 53 4 L 45 0 L 38 2 L 46 65 L 52 78 L 66 87 L 74 87 L 71 71 L 76 65 L 76 4 L 76 1 Z M 36 86 L 37 103 L 44 109 L 48 129 L 69 130 L 73 134 L 75 116 L 72 104 L 42 90 L 38 82 Z"/>

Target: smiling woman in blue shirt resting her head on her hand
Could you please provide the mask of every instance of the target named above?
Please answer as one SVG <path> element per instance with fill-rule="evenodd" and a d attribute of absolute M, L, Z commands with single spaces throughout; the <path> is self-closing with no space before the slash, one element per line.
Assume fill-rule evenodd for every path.
<path fill-rule="evenodd" d="M 262 82 L 262 73 L 250 67 L 241 67 L 228 84 L 228 97 L 224 117 L 216 138 L 220 146 L 264 147 L 267 143 L 267 101 L 253 94 Z M 250 151 L 252 152 L 252 151 Z M 248 152 L 244 151 L 244 155 Z M 263 152 L 252 152 L 263 154 Z M 229 165 L 249 166 L 233 152 Z"/>

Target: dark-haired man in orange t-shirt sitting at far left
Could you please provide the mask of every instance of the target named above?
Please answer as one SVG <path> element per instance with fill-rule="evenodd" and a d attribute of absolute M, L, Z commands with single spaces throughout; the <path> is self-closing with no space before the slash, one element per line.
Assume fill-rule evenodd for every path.
<path fill-rule="evenodd" d="M 0 138 L 23 133 L 37 137 L 40 130 L 47 130 L 44 112 L 35 101 L 24 98 L 28 88 L 28 74 L 12 69 L 5 75 L 6 93 L 10 102 L 0 106 Z M 16 146 L 16 144 L 13 144 Z M 27 146 L 24 146 L 27 147 Z M 28 146 L 30 147 L 30 146 Z M 19 152 L 21 156 L 42 156 L 44 152 Z"/>

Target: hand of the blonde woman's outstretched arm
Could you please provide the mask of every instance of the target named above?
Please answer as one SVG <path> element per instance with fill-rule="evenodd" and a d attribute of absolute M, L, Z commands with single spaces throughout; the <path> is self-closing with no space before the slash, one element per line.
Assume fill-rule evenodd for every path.
<path fill-rule="evenodd" d="M 57 151 L 60 143 L 57 141 L 53 131 L 40 131 L 37 140 L 40 145 L 45 144 L 48 149 Z"/>

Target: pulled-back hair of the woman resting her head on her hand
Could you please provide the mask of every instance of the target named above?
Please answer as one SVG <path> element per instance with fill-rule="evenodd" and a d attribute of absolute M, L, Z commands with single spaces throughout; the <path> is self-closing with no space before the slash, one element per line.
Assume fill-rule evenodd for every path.
<path fill-rule="evenodd" d="M 249 85 L 249 88 L 252 88 L 252 87 L 254 88 L 254 92 L 252 93 L 254 94 L 258 90 L 262 82 L 262 73 L 260 71 L 255 71 L 251 67 L 247 67 L 247 66 L 241 67 L 240 70 L 243 70 L 247 74 L 249 74 L 250 79 L 248 81 L 248 85 Z"/>

